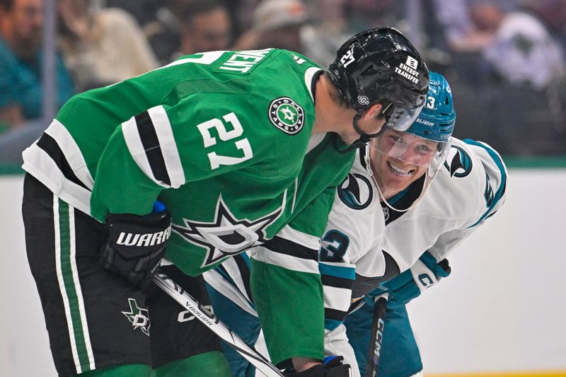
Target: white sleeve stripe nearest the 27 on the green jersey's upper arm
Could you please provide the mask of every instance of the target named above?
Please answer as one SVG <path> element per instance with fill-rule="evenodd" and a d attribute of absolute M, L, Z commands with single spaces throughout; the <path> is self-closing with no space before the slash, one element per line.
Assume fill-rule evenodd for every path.
<path fill-rule="evenodd" d="M 163 106 L 156 106 L 147 110 L 147 112 L 154 124 L 161 153 L 163 153 L 163 160 L 171 180 L 171 187 L 178 188 L 185 183 L 185 173 L 183 173 L 183 166 L 167 113 Z"/>

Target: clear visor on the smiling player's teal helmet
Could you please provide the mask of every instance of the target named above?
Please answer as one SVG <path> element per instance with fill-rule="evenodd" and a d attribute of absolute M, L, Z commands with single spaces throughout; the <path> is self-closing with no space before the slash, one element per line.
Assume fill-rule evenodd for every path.
<path fill-rule="evenodd" d="M 425 139 L 408 132 L 384 129 L 383 133 L 369 144 L 371 149 L 405 163 L 428 168 L 434 176 L 446 160 L 451 142 Z"/>

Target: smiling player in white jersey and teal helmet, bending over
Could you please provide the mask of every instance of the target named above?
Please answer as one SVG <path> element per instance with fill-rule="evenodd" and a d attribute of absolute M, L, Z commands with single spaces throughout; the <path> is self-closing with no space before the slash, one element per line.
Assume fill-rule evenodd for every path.
<path fill-rule="evenodd" d="M 371 302 L 362 300 L 367 294 L 387 289 L 390 303 L 378 376 L 420 372 L 404 304 L 449 274 L 446 256 L 504 202 L 504 163 L 487 144 L 452 138 L 455 118 L 448 83 L 431 73 L 427 105 L 417 121 L 407 132 L 384 129 L 360 149 L 337 190 L 319 256 L 325 348 L 328 354 L 345 356 L 354 376 L 364 373 L 373 309 L 366 306 L 347 321 L 358 369 L 342 324 L 351 303 L 359 307 Z M 243 255 L 205 279 L 219 318 L 255 342 L 259 323 L 248 269 Z M 245 360 L 230 353 L 228 357 L 234 376 L 253 375 Z"/>

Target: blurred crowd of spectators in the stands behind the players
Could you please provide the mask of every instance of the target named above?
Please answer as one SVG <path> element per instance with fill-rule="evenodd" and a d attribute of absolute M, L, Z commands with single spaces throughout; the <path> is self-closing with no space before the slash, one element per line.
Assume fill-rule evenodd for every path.
<path fill-rule="evenodd" d="M 212 50 L 280 47 L 326 69 L 381 25 L 449 80 L 456 137 L 566 156 L 566 0 L 0 0 L 0 164 L 74 93 Z"/>

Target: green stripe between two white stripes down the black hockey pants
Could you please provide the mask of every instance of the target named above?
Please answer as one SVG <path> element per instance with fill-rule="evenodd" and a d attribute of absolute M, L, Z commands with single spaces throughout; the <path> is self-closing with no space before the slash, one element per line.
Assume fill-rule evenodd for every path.
<path fill-rule="evenodd" d="M 71 209 L 72 210 L 72 209 Z M 79 308 L 79 298 L 76 294 L 76 287 L 73 279 L 71 267 L 71 228 L 69 224 L 69 204 L 59 199 L 59 240 L 61 247 L 61 272 L 64 281 L 67 300 L 69 301 L 69 311 L 71 312 L 71 322 L 74 332 L 76 353 L 81 364 L 81 373 L 90 371 L 91 364 L 88 361 L 85 336 L 83 333 L 83 323 Z"/>

